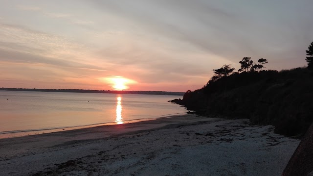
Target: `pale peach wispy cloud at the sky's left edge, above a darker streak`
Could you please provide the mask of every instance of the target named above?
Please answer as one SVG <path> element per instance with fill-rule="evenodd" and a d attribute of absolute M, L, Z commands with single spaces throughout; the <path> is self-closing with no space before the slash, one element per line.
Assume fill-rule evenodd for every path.
<path fill-rule="evenodd" d="M 0 24 L 0 31 L 0 60 L 105 70 L 85 60 L 87 47 L 65 37 L 19 25 Z"/>

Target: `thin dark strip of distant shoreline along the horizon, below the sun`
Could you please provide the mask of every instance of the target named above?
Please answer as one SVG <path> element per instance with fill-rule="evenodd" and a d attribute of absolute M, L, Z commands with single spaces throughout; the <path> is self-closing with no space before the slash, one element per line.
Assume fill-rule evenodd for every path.
<path fill-rule="evenodd" d="M 85 89 L 25 89 L 25 88 L 0 88 L 2 91 L 27 91 L 27 92 L 72 92 L 72 93 L 101 93 L 101 94 L 144 94 L 144 95 L 175 95 L 183 96 L 184 92 L 166 91 L 118 91 L 118 90 L 85 90 Z"/>

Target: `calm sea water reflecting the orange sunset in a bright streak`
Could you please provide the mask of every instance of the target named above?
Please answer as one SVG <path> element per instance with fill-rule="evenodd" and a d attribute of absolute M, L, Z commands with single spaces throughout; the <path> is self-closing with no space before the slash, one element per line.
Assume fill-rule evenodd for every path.
<path fill-rule="evenodd" d="M 0 138 L 185 114 L 185 108 L 167 102 L 178 98 L 182 97 L 0 91 Z"/>

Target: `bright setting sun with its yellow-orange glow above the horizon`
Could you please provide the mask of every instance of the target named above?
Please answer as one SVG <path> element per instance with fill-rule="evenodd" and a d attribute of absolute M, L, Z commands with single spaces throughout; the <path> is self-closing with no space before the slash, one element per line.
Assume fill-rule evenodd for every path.
<path fill-rule="evenodd" d="M 99 78 L 100 80 L 108 83 L 114 90 L 127 90 L 129 87 L 128 84 L 135 84 L 136 81 L 128 79 L 122 76 L 108 76 Z"/>

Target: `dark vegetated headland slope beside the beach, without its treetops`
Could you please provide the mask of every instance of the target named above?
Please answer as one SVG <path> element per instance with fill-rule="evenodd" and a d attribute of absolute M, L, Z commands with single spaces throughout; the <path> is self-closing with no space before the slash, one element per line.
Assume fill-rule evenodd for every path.
<path fill-rule="evenodd" d="M 313 122 L 313 72 L 307 68 L 234 73 L 187 91 L 186 106 L 204 116 L 247 118 L 275 132 L 301 137 Z"/>

